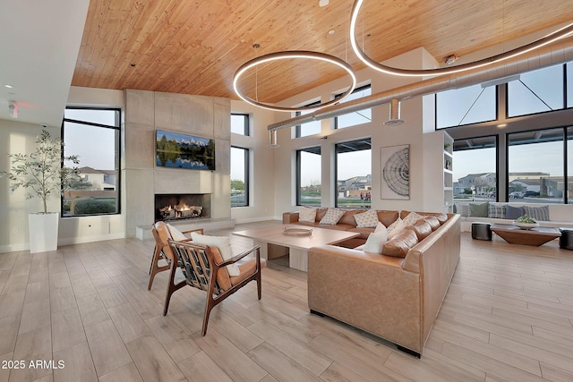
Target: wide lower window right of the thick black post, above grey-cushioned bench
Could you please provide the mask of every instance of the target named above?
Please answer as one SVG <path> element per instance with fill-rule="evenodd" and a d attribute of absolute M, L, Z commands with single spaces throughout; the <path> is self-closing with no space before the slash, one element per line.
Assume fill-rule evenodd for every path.
<path fill-rule="evenodd" d="M 563 135 L 550 129 L 508 134 L 509 200 L 563 203 Z"/>

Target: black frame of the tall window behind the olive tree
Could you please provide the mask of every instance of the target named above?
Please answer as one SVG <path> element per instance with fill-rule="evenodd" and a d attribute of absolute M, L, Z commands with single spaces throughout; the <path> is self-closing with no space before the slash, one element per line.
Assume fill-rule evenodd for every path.
<path fill-rule="evenodd" d="M 66 106 L 65 109 L 69 110 L 107 110 L 107 111 L 114 111 L 115 112 L 115 126 L 103 124 L 103 123 L 93 123 L 88 121 L 81 121 L 75 120 L 72 118 L 66 118 L 64 113 L 64 118 L 62 119 L 62 126 L 60 128 L 60 136 L 62 137 L 62 141 L 64 141 L 64 128 L 65 123 L 77 123 L 86 126 L 92 127 L 99 127 L 103 129 L 110 129 L 114 130 L 116 134 L 115 138 L 115 212 L 108 212 L 108 213 L 100 213 L 100 214 L 86 214 L 86 215 L 64 215 L 64 192 L 62 192 L 62 197 L 60 198 L 60 216 L 62 218 L 74 218 L 74 217 L 84 217 L 84 216 L 110 216 L 110 215 L 121 215 L 122 214 L 122 178 L 121 178 L 121 160 L 122 160 L 122 134 L 121 134 L 121 121 L 122 121 L 122 109 L 119 107 L 92 107 L 92 106 Z M 80 157 L 81 159 L 81 157 Z M 64 150 L 62 150 L 62 166 L 64 166 Z M 62 189 L 64 191 L 64 189 Z"/>

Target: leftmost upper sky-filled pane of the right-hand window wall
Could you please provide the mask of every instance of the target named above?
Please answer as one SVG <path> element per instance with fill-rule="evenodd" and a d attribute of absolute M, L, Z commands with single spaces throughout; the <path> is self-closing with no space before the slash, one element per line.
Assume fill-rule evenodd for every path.
<path fill-rule="evenodd" d="M 468 86 L 436 93 L 436 127 L 492 121 L 497 117 L 495 86 Z"/>

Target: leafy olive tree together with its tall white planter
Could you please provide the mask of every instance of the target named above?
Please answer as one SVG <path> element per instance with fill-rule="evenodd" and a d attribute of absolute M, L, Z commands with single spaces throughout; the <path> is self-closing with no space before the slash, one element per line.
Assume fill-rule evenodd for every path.
<path fill-rule="evenodd" d="M 10 180 L 10 191 L 26 190 L 26 199 L 39 198 L 44 211 L 28 216 L 30 253 L 57 249 L 58 212 L 47 212 L 47 199 L 61 196 L 71 182 L 80 179 L 77 167 L 62 166 L 62 161 L 78 165 L 78 156 L 63 157 L 64 142 L 42 130 L 36 140 L 37 147 L 28 154 L 9 154 L 10 171 L 0 171 L 0 177 Z"/>

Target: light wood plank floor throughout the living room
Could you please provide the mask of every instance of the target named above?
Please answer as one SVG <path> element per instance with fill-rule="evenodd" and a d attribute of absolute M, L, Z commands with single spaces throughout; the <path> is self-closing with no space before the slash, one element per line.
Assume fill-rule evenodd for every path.
<path fill-rule="evenodd" d="M 557 241 L 464 233 L 421 360 L 309 314 L 306 275 L 284 259 L 263 271 L 261 301 L 247 285 L 212 311 L 201 337 L 200 291 L 176 292 L 167 317 L 166 272 L 148 292 L 152 249 L 125 239 L 0 254 L 0 381 L 573 380 L 573 251 Z M 36 360 L 64 369 L 30 369 Z"/>

